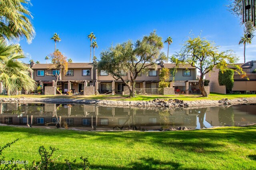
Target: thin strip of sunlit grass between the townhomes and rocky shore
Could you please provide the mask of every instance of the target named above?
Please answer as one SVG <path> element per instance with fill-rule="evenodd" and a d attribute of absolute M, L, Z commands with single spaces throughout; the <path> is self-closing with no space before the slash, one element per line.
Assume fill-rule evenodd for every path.
<path fill-rule="evenodd" d="M 94 100 L 152 100 L 156 98 L 167 98 L 167 99 L 180 99 L 185 101 L 194 101 L 194 100 L 221 100 L 223 98 L 228 99 L 235 99 L 235 98 L 256 98 L 256 94 L 217 94 L 211 93 L 207 98 L 201 97 L 201 95 L 168 95 L 168 96 L 156 96 L 156 95 L 148 95 L 142 96 L 139 95 L 136 98 L 127 98 L 127 96 L 121 95 L 94 95 L 94 96 L 82 96 L 82 95 L 56 95 L 56 96 L 49 96 L 49 95 L 17 95 L 17 96 L 3 96 L 0 95 L 0 98 L 4 97 L 11 97 L 11 98 L 68 98 L 68 99 L 94 99 Z"/>

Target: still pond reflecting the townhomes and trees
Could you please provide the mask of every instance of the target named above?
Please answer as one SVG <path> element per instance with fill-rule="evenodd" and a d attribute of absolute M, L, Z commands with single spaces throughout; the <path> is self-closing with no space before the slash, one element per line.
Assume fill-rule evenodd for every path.
<path fill-rule="evenodd" d="M 83 130 L 204 129 L 256 123 L 256 105 L 143 108 L 88 104 L 0 103 L 0 123 Z"/>

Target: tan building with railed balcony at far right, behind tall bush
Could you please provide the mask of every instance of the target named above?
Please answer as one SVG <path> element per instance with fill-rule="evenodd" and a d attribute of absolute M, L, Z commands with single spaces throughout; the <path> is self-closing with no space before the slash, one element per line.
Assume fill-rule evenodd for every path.
<path fill-rule="evenodd" d="M 237 63 L 245 74 L 238 74 L 234 72 L 234 86 L 232 88 L 233 93 L 245 93 L 255 94 L 256 93 L 256 61 L 248 61 L 247 63 Z M 236 69 L 233 66 L 229 68 Z M 206 79 L 210 80 L 210 92 L 216 92 L 226 94 L 226 86 L 220 86 L 218 82 L 219 69 L 214 68 L 214 72 L 206 74 Z"/>

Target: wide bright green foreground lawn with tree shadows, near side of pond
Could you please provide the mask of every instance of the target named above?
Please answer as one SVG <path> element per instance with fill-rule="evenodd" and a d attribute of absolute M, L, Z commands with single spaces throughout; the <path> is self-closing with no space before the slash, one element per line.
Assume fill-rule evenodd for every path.
<path fill-rule="evenodd" d="M 256 169 L 256 127 L 167 132 L 86 132 L 0 126 L 0 146 L 10 158 L 39 160 L 38 147 L 57 147 L 54 156 L 87 156 L 92 169 L 241 170 Z"/>

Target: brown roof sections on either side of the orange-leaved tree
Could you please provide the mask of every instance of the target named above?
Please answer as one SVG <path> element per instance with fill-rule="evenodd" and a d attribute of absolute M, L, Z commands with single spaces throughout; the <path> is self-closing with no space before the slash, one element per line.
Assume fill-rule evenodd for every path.
<path fill-rule="evenodd" d="M 32 69 L 47 69 L 52 64 L 34 64 Z M 92 68 L 92 63 L 68 63 L 68 68 Z"/>

